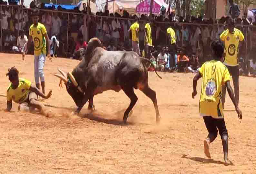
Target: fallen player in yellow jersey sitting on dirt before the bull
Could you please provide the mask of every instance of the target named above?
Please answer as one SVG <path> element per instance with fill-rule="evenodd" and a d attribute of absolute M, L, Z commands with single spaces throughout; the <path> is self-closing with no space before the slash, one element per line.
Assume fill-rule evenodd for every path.
<path fill-rule="evenodd" d="M 20 104 L 18 107 L 19 110 L 26 110 L 25 108 L 27 108 L 30 111 L 33 111 L 36 108 L 41 114 L 46 114 L 44 105 L 38 101 L 37 95 L 44 99 L 48 99 L 51 97 L 52 91 L 49 91 L 48 95 L 45 96 L 36 87 L 31 85 L 30 81 L 19 78 L 19 71 L 14 66 L 8 70 L 6 76 L 9 77 L 11 82 L 6 93 L 7 111 L 11 111 L 12 101 L 14 101 L 15 103 Z"/>

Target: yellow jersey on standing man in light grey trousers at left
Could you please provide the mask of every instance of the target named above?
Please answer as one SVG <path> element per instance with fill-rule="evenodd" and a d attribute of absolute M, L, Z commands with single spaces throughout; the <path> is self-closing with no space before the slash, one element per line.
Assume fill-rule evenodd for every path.
<path fill-rule="evenodd" d="M 46 28 L 42 23 L 37 24 L 34 26 L 32 24 L 29 28 L 29 36 L 32 36 L 34 41 L 34 55 L 40 56 L 41 54 L 46 55 L 46 39 L 44 34 L 46 34 Z"/>

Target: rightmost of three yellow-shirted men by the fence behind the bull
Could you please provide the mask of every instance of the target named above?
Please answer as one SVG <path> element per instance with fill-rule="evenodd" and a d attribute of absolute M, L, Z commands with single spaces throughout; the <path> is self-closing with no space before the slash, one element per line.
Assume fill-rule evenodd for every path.
<path fill-rule="evenodd" d="M 169 28 L 167 28 L 167 36 L 168 36 L 168 41 L 169 41 L 169 54 L 170 56 L 168 57 L 169 59 L 169 67 L 174 70 L 177 66 L 177 62 L 175 60 L 175 53 L 176 53 L 176 36 L 175 36 L 175 31 L 172 29 L 171 25 Z"/>

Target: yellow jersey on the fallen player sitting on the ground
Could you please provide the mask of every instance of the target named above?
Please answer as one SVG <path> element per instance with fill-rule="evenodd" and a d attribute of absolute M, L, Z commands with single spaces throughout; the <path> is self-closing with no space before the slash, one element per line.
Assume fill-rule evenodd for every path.
<path fill-rule="evenodd" d="M 13 89 L 12 84 L 8 87 L 6 92 L 7 101 L 14 101 L 19 104 L 26 102 L 30 86 L 30 81 L 19 78 L 19 85 L 16 89 Z"/>

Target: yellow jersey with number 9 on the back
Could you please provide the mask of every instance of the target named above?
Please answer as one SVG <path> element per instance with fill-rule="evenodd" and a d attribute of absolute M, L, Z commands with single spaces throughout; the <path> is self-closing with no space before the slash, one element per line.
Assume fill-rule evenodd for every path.
<path fill-rule="evenodd" d="M 205 62 L 199 69 L 202 75 L 199 112 L 201 116 L 224 118 L 222 109 L 222 85 L 230 81 L 228 68 L 217 60 Z"/>

